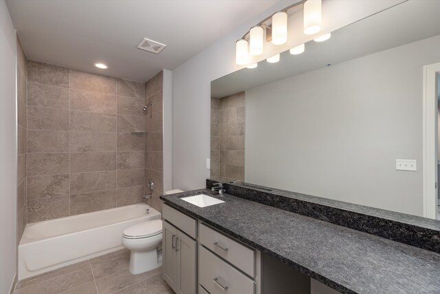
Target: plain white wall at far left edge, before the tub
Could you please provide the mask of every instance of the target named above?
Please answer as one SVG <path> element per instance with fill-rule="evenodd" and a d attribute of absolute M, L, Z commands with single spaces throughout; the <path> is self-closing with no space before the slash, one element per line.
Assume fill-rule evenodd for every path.
<path fill-rule="evenodd" d="M 15 30 L 0 0 L 0 293 L 17 270 L 17 114 Z"/>

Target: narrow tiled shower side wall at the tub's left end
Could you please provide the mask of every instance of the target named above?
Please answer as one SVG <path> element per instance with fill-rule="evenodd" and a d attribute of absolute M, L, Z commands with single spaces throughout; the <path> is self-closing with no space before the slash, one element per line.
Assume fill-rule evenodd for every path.
<path fill-rule="evenodd" d="M 17 245 L 26 226 L 26 66 L 17 35 Z"/>

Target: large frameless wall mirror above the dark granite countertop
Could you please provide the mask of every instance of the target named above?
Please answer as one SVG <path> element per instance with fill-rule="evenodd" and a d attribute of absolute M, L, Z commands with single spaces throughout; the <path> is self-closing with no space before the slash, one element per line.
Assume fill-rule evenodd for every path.
<path fill-rule="evenodd" d="M 440 63 L 439 12 L 406 1 L 212 81 L 211 178 L 424 216 L 423 66 Z"/>

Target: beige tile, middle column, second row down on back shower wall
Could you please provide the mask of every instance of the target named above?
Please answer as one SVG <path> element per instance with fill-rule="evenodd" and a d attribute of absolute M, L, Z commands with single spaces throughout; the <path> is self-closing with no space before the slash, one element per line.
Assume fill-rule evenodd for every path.
<path fill-rule="evenodd" d="M 112 94 L 71 89 L 70 109 L 115 114 L 116 96 Z"/>

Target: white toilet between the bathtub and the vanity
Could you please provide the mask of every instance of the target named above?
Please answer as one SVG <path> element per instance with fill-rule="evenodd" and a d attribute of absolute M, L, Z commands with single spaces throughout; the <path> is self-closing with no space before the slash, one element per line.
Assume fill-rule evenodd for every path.
<path fill-rule="evenodd" d="M 180 192 L 176 189 L 165 194 Z M 122 246 L 131 250 L 129 271 L 133 275 L 162 266 L 162 220 L 148 220 L 124 229 Z"/>

